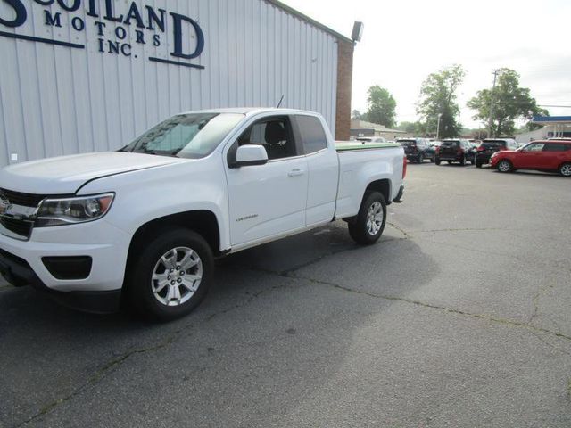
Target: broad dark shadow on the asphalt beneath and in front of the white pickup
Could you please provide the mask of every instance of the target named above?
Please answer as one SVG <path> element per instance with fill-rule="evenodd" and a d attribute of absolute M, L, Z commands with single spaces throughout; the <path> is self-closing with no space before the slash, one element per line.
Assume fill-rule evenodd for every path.
<path fill-rule="evenodd" d="M 69 407 L 73 412 L 80 404 L 70 397 L 78 394 L 80 403 L 82 395 L 90 395 L 78 391 L 114 382 L 121 382 L 121 391 L 139 403 L 145 397 L 152 400 L 157 391 L 166 396 L 171 389 L 192 386 L 203 391 L 194 395 L 192 413 L 206 414 L 211 402 L 200 397 L 211 395 L 211 383 L 228 383 L 228 366 L 233 367 L 232 383 L 256 383 L 249 390 L 249 402 L 269 400 L 269 415 L 272 408 L 285 412 L 288 404 L 279 399 L 280 393 L 298 394 L 301 387 L 319 391 L 350 358 L 352 331 L 393 304 L 361 292 L 406 295 L 430 281 L 434 269 L 433 260 L 396 229 L 387 226 L 380 243 L 360 247 L 338 222 L 218 260 L 215 284 L 203 304 L 166 325 L 145 323 L 126 313 L 83 314 L 29 287 L 4 288 L 0 391 L 5 399 L 0 402 L 0 425 L 18 425 L 34 416 L 43 424 L 53 412 L 42 409 L 54 403 L 60 409 L 57 403 L 65 403 L 61 410 Z M 418 271 L 425 273 L 421 281 Z M 337 339 L 332 342 L 331 337 Z M 145 356 L 170 363 L 148 366 Z M 145 375 L 124 374 L 120 367 L 126 361 L 128 371 L 137 367 L 136 372 Z M 307 379 L 300 364 L 327 370 Z M 173 370 L 180 373 L 172 376 Z M 272 381 L 280 376 L 280 383 Z M 279 393 L 268 394 L 266 387 Z M 224 390 L 227 403 L 244 400 L 244 391 Z M 110 400 L 113 406 L 111 396 L 100 400 Z M 186 395 L 180 400 L 184 406 Z M 103 402 L 99 405 L 107 408 Z M 254 424 L 248 407 L 228 406 L 217 416 L 218 426 L 230 426 L 236 415 L 242 426 Z M 136 409 L 132 412 L 137 414 Z M 90 415 L 95 419 L 89 421 L 97 424 L 97 415 Z"/>

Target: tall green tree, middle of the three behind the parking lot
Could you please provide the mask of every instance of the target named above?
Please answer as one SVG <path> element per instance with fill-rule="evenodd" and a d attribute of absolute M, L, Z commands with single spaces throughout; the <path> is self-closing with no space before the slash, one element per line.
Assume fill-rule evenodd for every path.
<path fill-rule="evenodd" d="M 441 138 L 461 134 L 462 125 L 458 120 L 459 106 L 456 102 L 456 93 L 465 76 L 466 71 L 462 66 L 455 64 L 430 74 L 422 83 L 417 113 L 424 122 L 427 132 L 436 134 L 440 117 Z"/>

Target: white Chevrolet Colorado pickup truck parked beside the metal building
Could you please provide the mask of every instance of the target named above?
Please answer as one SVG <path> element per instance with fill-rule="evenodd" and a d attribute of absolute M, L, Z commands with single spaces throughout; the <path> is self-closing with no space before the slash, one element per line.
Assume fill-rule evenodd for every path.
<path fill-rule="evenodd" d="M 399 144 L 335 144 L 309 111 L 179 114 L 119 152 L 0 171 L 0 272 L 63 304 L 154 319 L 191 311 L 214 258 L 336 218 L 375 243 L 400 202 Z"/>

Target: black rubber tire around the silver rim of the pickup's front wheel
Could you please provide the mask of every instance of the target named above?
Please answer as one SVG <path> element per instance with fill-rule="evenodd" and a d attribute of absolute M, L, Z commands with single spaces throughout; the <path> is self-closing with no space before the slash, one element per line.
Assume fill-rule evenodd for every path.
<path fill-rule="evenodd" d="M 188 300 L 178 306 L 167 306 L 167 304 L 159 301 L 159 297 L 155 298 L 153 284 L 158 283 L 153 283 L 153 273 L 155 273 L 155 268 L 161 263 L 163 255 L 180 248 L 190 249 L 198 255 L 200 266 L 202 267 L 202 279 L 198 288 Z M 184 256 L 184 252 L 179 252 L 179 259 L 181 259 L 180 254 Z M 174 259 L 174 251 L 172 259 Z M 198 269 L 198 265 L 189 268 L 186 275 L 195 275 L 198 273 Z M 178 317 L 184 317 L 196 308 L 206 296 L 211 285 L 213 269 L 214 258 L 211 247 L 201 235 L 184 228 L 165 229 L 154 238 L 147 240 L 143 249 L 132 259 L 129 259 L 125 280 L 128 304 L 131 309 L 135 310 L 137 315 L 153 321 L 170 321 Z M 182 273 L 182 270 L 174 275 L 179 276 L 179 273 Z M 164 274 L 168 275 L 166 268 L 164 269 Z M 168 289 L 172 288 L 169 284 L 163 287 L 167 289 L 166 292 L 169 292 Z M 181 291 L 190 293 L 189 290 L 183 288 L 184 285 L 174 284 L 174 287 L 178 288 L 179 293 Z M 164 299 L 169 299 L 169 297 L 170 294 L 166 295 Z M 172 300 L 170 299 L 171 302 Z"/>

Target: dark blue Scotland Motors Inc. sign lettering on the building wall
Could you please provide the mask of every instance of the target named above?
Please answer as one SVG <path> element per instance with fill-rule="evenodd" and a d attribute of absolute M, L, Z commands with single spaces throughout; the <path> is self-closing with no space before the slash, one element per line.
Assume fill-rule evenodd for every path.
<path fill-rule="evenodd" d="M 117 11 L 115 4 L 127 4 Z M 172 2 L 175 3 L 175 2 Z M 37 4 L 37 6 L 35 5 Z M 149 56 L 152 62 L 203 69 L 191 61 L 204 50 L 204 34 L 192 18 L 137 2 L 115 0 L 0 0 L 0 37 L 12 37 L 49 45 L 85 49 L 85 45 L 64 40 L 21 34 L 19 29 L 29 21 L 32 7 L 42 7 L 42 25 L 62 28 L 70 22 L 73 32 L 93 34 L 97 51 L 102 54 L 138 58 L 137 46 L 160 47 L 167 43 L 167 29 L 172 37 L 172 50 L 168 58 Z M 86 19 L 83 18 L 85 9 Z M 37 25 L 37 23 L 35 24 Z M 3 31 L 2 27 L 12 29 Z M 87 40 L 90 37 L 87 37 Z"/>

